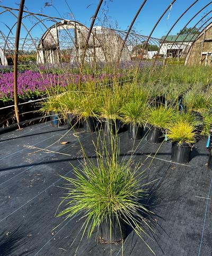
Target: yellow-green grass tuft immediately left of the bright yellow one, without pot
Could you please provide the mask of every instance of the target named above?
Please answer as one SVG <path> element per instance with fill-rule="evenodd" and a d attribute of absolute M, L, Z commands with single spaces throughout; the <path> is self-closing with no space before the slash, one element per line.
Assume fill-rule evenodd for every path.
<path fill-rule="evenodd" d="M 152 126 L 167 129 L 172 124 L 175 110 L 172 107 L 165 106 L 155 107 L 150 110 L 148 123 Z"/>

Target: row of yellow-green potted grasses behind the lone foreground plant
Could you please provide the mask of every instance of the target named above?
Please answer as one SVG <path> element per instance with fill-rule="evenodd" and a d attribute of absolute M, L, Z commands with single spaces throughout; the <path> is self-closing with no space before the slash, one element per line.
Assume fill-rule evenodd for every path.
<path fill-rule="evenodd" d="M 180 104 L 183 102 L 184 99 Z M 102 121 L 106 133 L 116 133 L 119 126 L 127 124 L 131 139 L 142 138 L 147 126 L 151 130 L 149 138 L 156 137 L 152 142 L 165 135 L 177 146 L 191 148 L 198 133 L 210 133 L 211 102 L 205 106 L 200 101 L 197 106 L 185 101 L 181 108 L 178 101 L 164 105 L 151 98 L 143 88 L 132 84 L 114 87 L 89 85 L 50 97 L 40 111 L 57 114 L 72 125 L 76 120 L 83 120 L 86 131 L 95 131 L 97 123 Z"/>

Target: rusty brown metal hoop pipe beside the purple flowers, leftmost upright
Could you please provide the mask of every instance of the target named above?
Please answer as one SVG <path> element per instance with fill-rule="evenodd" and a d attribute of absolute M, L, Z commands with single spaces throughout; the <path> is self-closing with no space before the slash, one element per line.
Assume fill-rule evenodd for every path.
<path fill-rule="evenodd" d="M 19 124 L 19 108 L 17 106 L 18 99 L 17 99 L 17 57 L 19 55 L 19 39 L 20 39 L 20 31 L 21 31 L 21 21 L 23 15 L 23 8 L 24 8 L 25 0 L 21 0 L 20 7 L 19 7 L 19 16 L 17 18 L 17 28 L 16 28 L 16 36 L 15 36 L 15 51 L 14 51 L 14 109 L 15 109 L 15 116 L 17 123 Z"/>

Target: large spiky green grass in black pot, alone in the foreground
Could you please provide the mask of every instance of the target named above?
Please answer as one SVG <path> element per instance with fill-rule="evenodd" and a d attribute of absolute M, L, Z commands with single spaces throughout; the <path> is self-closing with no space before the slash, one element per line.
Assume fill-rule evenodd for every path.
<path fill-rule="evenodd" d="M 146 220 L 154 213 L 148 210 L 146 203 L 142 203 L 148 198 L 145 172 L 140 170 L 142 165 L 133 164 L 131 158 L 120 158 L 117 136 L 109 138 L 109 147 L 105 138 L 98 140 L 96 160 L 85 155 L 80 167 L 73 166 L 74 177 L 63 177 L 66 194 L 57 216 L 83 219 L 80 227 L 82 237 L 85 232 L 91 237 L 97 231 L 96 238 L 100 241 L 121 242 L 123 246 L 130 229 L 142 240 L 144 225 L 154 232 Z M 60 211 L 61 205 L 65 208 Z"/>

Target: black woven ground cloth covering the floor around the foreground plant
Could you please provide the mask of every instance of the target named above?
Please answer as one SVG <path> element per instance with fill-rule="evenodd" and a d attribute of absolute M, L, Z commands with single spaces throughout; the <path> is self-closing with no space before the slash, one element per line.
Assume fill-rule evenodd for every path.
<path fill-rule="evenodd" d="M 55 217 L 66 183 L 59 175 L 74 177 L 72 165 L 83 164 L 81 146 L 95 161 L 92 141 L 99 133 L 102 136 L 102 131 L 73 131 L 47 122 L 1 135 L 0 248 L 4 251 L 0 255 L 121 255 L 120 242 L 95 240 L 96 229 L 80 241 L 84 220 L 79 216 L 65 221 Z M 154 220 L 145 217 L 153 223 L 154 232 L 144 226 L 149 234 L 142 234 L 144 241 L 156 255 L 210 255 L 212 170 L 207 167 L 207 138 L 200 136 L 189 163 L 178 164 L 170 161 L 170 142 L 152 144 L 146 136 L 134 141 L 127 132 L 118 137 L 119 158 L 132 157 L 134 164 L 143 163 L 145 181 L 154 181 L 148 198 Z M 135 231 L 123 241 L 123 252 L 153 255 Z"/>

